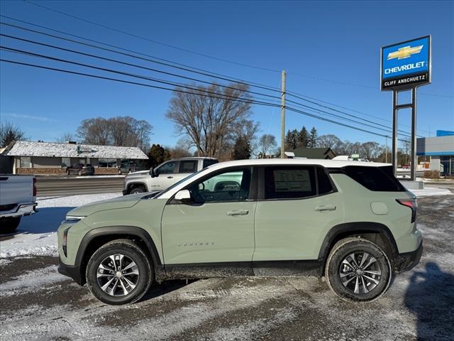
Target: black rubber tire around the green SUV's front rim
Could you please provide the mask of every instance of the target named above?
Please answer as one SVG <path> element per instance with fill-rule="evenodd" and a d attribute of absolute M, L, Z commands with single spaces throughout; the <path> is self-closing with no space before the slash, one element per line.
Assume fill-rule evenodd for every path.
<path fill-rule="evenodd" d="M 136 279 L 137 282 L 135 283 L 135 288 L 131 289 L 131 287 L 128 287 L 129 289 L 131 289 L 131 291 L 125 294 L 123 291 L 123 285 L 126 284 L 126 280 L 124 280 L 123 276 L 114 279 L 112 283 L 115 283 L 116 281 L 118 281 L 118 283 L 121 283 L 123 279 L 124 284 L 121 283 L 123 288 L 118 285 L 116 287 L 112 285 L 113 288 L 116 288 L 114 289 L 114 294 L 116 292 L 121 294 L 121 296 L 113 296 L 101 288 L 101 284 L 104 282 L 99 283 L 97 274 L 101 262 L 105 261 L 107 258 L 109 258 L 109 256 L 118 256 L 120 254 L 135 262 L 138 271 L 138 276 Z M 104 244 L 94 252 L 87 264 L 87 271 L 85 275 L 87 278 L 88 288 L 94 297 L 96 297 L 103 303 L 111 305 L 122 305 L 137 302 L 145 295 L 145 293 L 147 293 L 148 289 L 151 286 L 151 283 L 153 282 L 154 271 L 150 259 L 148 259 L 148 256 L 146 256 L 146 254 L 142 249 L 140 249 L 140 247 L 138 247 L 129 239 L 116 239 L 112 242 Z M 116 276 L 111 277 L 116 278 Z M 107 279 L 101 278 L 101 280 L 109 281 L 110 277 L 107 277 Z M 106 290 L 109 290 L 109 286 L 106 288 Z M 123 293 L 121 293 L 120 291 L 123 291 Z"/>

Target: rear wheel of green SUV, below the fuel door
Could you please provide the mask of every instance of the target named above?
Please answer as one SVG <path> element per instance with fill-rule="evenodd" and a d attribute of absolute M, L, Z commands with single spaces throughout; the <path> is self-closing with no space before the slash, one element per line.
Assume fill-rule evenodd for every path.
<path fill-rule="evenodd" d="M 343 300 L 370 302 L 387 291 L 392 271 L 387 254 L 377 244 L 362 238 L 346 238 L 331 250 L 325 276 L 329 288 Z"/>

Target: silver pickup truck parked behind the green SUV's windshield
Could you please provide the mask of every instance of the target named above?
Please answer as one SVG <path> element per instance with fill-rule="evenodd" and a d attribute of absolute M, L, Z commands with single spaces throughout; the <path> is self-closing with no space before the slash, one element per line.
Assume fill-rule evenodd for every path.
<path fill-rule="evenodd" d="M 129 173 L 124 180 L 123 195 L 165 190 L 191 173 L 218 162 L 216 158 L 177 158 L 150 171 Z"/>

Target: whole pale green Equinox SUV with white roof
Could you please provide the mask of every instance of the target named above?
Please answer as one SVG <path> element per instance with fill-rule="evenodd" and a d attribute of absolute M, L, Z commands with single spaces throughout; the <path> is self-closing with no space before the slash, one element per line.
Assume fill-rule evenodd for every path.
<path fill-rule="evenodd" d="M 339 297 L 372 301 L 421 258 L 416 207 L 384 163 L 229 161 L 70 211 L 59 271 L 109 304 L 167 279 L 228 276 L 325 276 Z"/>

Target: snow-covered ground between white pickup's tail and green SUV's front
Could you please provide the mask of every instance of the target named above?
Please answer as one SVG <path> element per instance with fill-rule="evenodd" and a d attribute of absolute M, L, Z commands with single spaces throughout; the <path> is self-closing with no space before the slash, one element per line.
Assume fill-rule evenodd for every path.
<path fill-rule="evenodd" d="M 12 256 L 56 256 L 57 228 L 74 207 L 118 197 L 121 193 L 38 197 L 38 212 L 23 217 L 16 234 L 0 238 L 0 259 Z"/>

